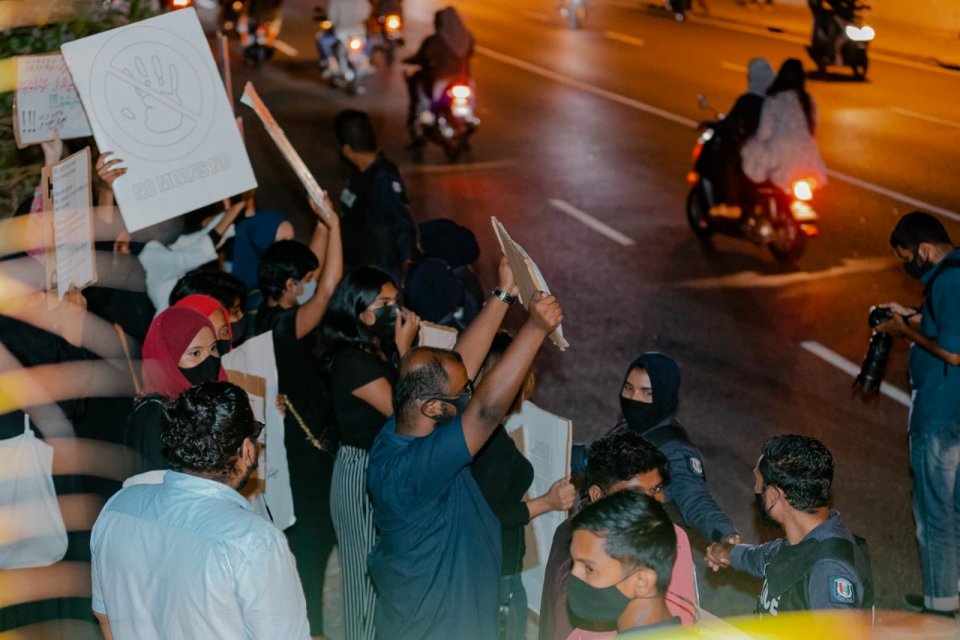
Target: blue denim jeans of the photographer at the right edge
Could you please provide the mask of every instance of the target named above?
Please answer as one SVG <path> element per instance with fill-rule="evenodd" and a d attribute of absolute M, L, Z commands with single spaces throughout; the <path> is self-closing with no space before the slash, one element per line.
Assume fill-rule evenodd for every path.
<path fill-rule="evenodd" d="M 960 424 L 911 425 L 910 468 L 924 606 L 954 610 L 960 607 Z"/>

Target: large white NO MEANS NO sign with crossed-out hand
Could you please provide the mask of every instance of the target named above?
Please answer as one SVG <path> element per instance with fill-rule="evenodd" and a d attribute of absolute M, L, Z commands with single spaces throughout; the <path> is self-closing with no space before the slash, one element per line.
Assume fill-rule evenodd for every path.
<path fill-rule="evenodd" d="M 127 167 L 113 191 L 128 231 L 257 186 L 194 9 L 60 50 L 97 146 Z"/>

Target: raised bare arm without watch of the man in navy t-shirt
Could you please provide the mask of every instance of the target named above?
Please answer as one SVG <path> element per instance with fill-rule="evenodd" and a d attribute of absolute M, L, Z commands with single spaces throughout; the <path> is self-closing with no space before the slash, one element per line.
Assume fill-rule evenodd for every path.
<path fill-rule="evenodd" d="M 480 387 L 463 412 L 463 435 L 471 455 L 476 455 L 490 439 L 493 430 L 510 409 L 544 338 L 563 320 L 557 299 L 543 292 L 534 295 L 529 311 L 530 317 L 517 337 L 500 362 L 483 377 Z"/>

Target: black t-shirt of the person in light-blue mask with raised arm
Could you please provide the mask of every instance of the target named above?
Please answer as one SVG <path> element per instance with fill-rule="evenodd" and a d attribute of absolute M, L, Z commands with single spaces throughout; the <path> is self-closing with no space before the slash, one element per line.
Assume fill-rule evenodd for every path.
<path fill-rule="evenodd" d="M 277 360 L 280 393 L 285 394 L 304 423 L 318 439 L 324 439 L 329 420 L 325 419 L 323 379 L 320 361 L 314 355 L 313 332 L 297 339 L 297 309 L 271 307 L 264 302 L 257 311 L 257 335 L 273 331 L 273 353 Z M 308 453 L 312 445 L 297 424 L 293 412 L 287 411 L 286 447 L 288 458 Z M 329 437 L 330 434 L 326 434 Z M 309 452 L 312 453 L 312 452 Z"/>

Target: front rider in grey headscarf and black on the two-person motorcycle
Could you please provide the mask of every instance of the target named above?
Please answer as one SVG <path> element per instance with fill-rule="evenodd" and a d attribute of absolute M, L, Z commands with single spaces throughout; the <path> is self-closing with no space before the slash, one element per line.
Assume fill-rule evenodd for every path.
<path fill-rule="evenodd" d="M 737 98 L 723 119 L 710 124 L 716 143 L 704 147 L 695 166 L 713 187 L 713 201 L 717 204 L 710 208 L 710 215 L 739 218 L 749 206 L 750 182 L 743 174 L 740 150 L 760 126 L 764 98 L 774 76 L 766 58 L 751 59 L 747 66 L 747 92 Z"/>

